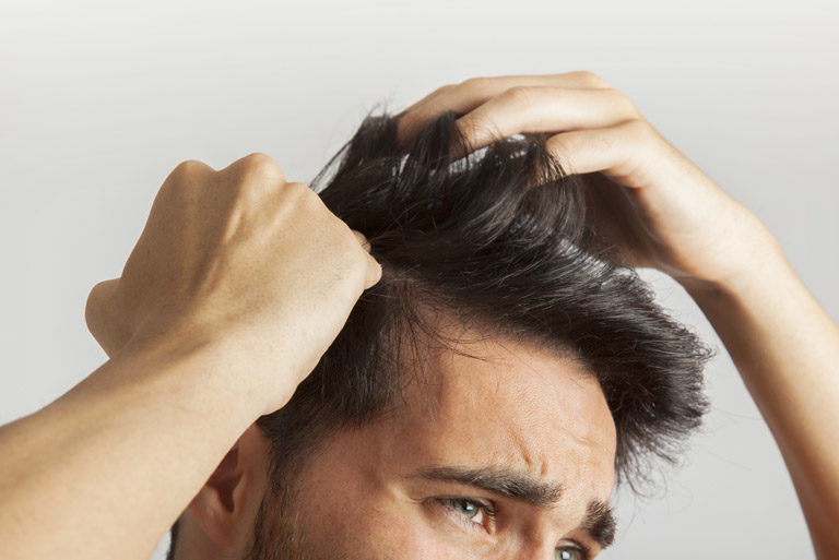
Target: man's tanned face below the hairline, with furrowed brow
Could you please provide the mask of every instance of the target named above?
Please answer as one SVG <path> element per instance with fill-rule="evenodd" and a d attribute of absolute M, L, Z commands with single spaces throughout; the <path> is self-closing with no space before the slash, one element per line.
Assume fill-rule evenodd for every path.
<path fill-rule="evenodd" d="M 589 502 L 608 502 L 615 427 L 596 380 L 570 359 L 512 341 L 461 349 L 474 357 L 447 350 L 423 360 L 435 374 L 412 388 L 399 414 L 328 441 L 295 482 L 291 511 L 272 510 L 294 523 L 268 538 L 267 552 L 312 560 L 495 559 L 553 558 L 557 549 L 577 559 L 581 547 L 599 550 L 584 520 Z M 422 475 L 442 466 L 506 469 L 563 492 L 537 507 Z M 264 490 L 243 491 L 258 499 Z M 452 498 L 497 513 L 489 516 L 483 505 L 463 512 L 465 504 L 446 502 Z M 303 535 L 302 544 L 285 545 L 288 533 Z M 194 527 L 178 558 L 206 553 L 193 553 L 193 539 L 201 540 Z M 248 558 L 273 558 L 269 553 Z"/>

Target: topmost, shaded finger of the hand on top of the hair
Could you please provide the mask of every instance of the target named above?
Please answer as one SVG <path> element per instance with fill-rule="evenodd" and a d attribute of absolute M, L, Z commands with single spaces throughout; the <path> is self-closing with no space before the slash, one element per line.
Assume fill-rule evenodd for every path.
<path fill-rule="evenodd" d="M 433 120 L 451 110 L 465 114 L 493 97 L 516 86 L 552 86 L 568 88 L 607 88 L 608 84 L 591 72 L 567 72 L 548 75 L 505 75 L 475 78 L 458 85 L 446 85 L 434 91 L 403 111 L 398 124 L 400 141 Z"/>

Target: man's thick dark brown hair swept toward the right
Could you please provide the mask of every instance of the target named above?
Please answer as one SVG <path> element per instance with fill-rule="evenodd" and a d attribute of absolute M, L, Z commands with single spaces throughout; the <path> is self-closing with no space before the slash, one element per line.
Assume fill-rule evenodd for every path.
<path fill-rule="evenodd" d="M 713 353 L 588 227 L 589 176 L 566 174 L 547 135 L 472 151 L 460 115 L 445 112 L 398 142 L 399 117 L 369 115 L 312 181 L 367 237 L 383 274 L 291 402 L 260 418 L 273 479 L 293 476 L 330 430 L 362 426 L 399 401 L 402 341 L 434 335 L 424 307 L 582 360 L 616 425 L 617 479 L 638 490 L 649 460 L 676 462 L 700 425 Z"/>

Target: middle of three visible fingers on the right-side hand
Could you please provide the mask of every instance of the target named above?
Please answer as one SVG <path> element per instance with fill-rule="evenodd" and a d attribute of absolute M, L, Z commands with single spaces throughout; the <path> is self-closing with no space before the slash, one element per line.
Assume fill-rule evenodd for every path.
<path fill-rule="evenodd" d="M 513 134 L 606 128 L 640 117 L 616 90 L 517 86 L 458 119 L 458 127 L 477 150 Z"/>

